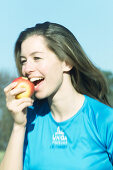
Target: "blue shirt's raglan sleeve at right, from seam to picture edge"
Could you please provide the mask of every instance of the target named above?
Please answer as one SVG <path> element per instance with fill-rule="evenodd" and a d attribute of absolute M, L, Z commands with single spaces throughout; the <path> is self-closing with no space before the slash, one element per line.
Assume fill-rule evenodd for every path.
<path fill-rule="evenodd" d="M 104 146 L 113 164 L 113 108 L 86 96 L 84 113 L 86 126 Z"/>

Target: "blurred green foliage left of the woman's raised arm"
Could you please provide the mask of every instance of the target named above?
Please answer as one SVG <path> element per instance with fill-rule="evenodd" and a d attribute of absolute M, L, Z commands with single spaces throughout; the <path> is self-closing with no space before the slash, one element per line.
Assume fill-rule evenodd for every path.
<path fill-rule="evenodd" d="M 6 107 L 4 88 L 10 84 L 14 78 L 15 76 L 10 76 L 9 73 L 0 73 L 0 150 L 6 149 L 13 126 L 13 119 Z"/>

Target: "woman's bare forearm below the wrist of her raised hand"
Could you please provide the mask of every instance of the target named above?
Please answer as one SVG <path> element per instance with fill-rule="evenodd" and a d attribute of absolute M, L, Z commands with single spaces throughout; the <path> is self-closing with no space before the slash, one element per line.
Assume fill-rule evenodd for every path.
<path fill-rule="evenodd" d="M 0 165 L 0 170 L 22 170 L 23 169 L 23 143 L 25 127 L 15 125 Z"/>

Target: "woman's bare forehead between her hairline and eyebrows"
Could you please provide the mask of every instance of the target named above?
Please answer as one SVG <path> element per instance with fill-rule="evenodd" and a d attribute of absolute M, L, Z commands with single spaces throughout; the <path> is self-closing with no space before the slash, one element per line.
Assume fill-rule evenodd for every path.
<path fill-rule="evenodd" d="M 44 52 L 47 50 L 47 43 L 42 36 L 33 35 L 24 40 L 21 44 L 21 55 L 33 53 L 34 51 Z"/>

